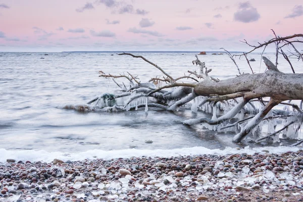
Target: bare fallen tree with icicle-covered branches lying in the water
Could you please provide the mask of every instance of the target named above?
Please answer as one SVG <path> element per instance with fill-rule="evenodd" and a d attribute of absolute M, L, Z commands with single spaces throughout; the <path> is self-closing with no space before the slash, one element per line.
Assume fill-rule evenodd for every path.
<path fill-rule="evenodd" d="M 236 66 L 234 57 L 244 56 L 252 72 L 252 74 L 241 74 L 237 67 L 239 75 L 226 80 L 219 80 L 210 76 L 212 70 L 208 69 L 205 63 L 201 62 L 197 56 L 195 56 L 196 60 L 192 61 L 192 63 L 199 66 L 199 72 L 188 71 L 188 75 L 173 78 L 161 67 L 142 56 L 121 53 L 118 55 L 126 55 L 144 60 L 159 69 L 164 76 L 151 78 L 148 82 L 142 83 L 130 73 L 127 75 L 112 75 L 100 71 L 99 76 L 111 78 L 117 84 L 119 90 L 115 93 L 104 93 L 95 97 L 87 105 L 66 106 L 66 108 L 80 111 L 127 111 L 145 108 L 145 111 L 147 111 L 151 107 L 176 111 L 191 107 L 192 111 L 203 110 L 213 114 L 213 117 L 185 120 L 184 124 L 203 124 L 204 127 L 218 131 L 234 131 L 240 128 L 233 138 L 235 142 L 240 142 L 264 123 L 268 124 L 269 134 L 256 139 L 257 142 L 269 138 L 279 141 L 281 132 L 287 138 L 296 139 L 303 122 L 303 74 L 294 73 L 289 56 L 283 52 L 283 47 L 291 45 L 295 53 L 291 53 L 290 56 L 297 57 L 297 59 L 303 61 L 302 54 L 292 44 L 302 41 L 289 41 L 289 39 L 301 37 L 303 37 L 303 34 L 287 37 L 278 37 L 275 34 L 275 38 L 268 42 L 260 43 L 258 46 L 250 45 L 244 41 L 251 47 L 254 47 L 252 51 L 260 47 L 266 47 L 271 43 L 276 44 L 276 64 L 273 64 L 266 57 L 262 57 L 267 67 L 267 71 L 264 73 L 256 74 L 252 71 L 246 57 L 252 51 L 232 56 L 225 50 Z M 278 55 L 283 55 L 288 61 L 293 74 L 285 74 L 278 70 Z M 119 83 L 115 80 L 117 78 L 125 78 L 129 81 L 129 84 Z M 179 82 L 181 79 L 190 79 L 191 82 Z M 163 83 L 166 85 L 162 85 Z M 266 101 L 264 98 L 269 98 L 269 100 Z M 192 100 L 194 101 L 191 102 Z M 291 104 L 291 100 L 301 101 L 299 106 L 297 106 Z M 191 106 L 188 103 L 191 103 Z M 292 110 L 274 110 L 273 108 L 277 105 L 289 106 Z M 217 118 L 217 116 L 219 117 Z M 280 122 L 284 127 L 281 130 L 275 131 L 277 119 L 282 120 Z M 301 143 L 301 141 L 299 142 Z"/>

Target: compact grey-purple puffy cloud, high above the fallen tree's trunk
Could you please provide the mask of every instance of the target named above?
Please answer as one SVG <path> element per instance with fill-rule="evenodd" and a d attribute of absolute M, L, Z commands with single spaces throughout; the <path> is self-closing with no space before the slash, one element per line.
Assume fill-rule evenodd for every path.
<path fill-rule="evenodd" d="M 249 2 L 244 2 L 239 4 L 239 10 L 234 13 L 234 20 L 249 23 L 258 21 L 260 14 L 257 9 L 252 7 Z"/>

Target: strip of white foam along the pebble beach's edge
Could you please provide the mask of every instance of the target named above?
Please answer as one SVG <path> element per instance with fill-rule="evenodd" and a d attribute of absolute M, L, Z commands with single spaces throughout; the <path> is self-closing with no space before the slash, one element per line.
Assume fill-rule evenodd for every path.
<path fill-rule="evenodd" d="M 116 159 L 116 158 L 130 158 L 130 157 L 171 157 L 171 156 L 187 156 L 187 155 L 204 155 L 204 154 L 216 154 L 216 155 L 226 155 L 226 154 L 250 154 L 263 153 L 262 150 L 266 149 L 271 154 L 273 153 L 283 153 L 286 151 L 297 151 L 298 147 L 288 147 L 288 146 L 265 146 L 250 148 L 246 146 L 242 149 L 236 149 L 227 147 L 224 150 L 220 149 L 209 149 L 206 147 L 196 146 L 189 148 L 176 148 L 176 149 L 123 149 L 123 150 L 87 150 L 80 153 L 62 153 L 59 151 L 47 152 L 45 150 L 7 150 L 0 148 L 0 162 L 6 162 L 7 159 L 15 159 L 16 161 L 41 161 L 41 162 L 52 162 L 54 159 L 60 159 L 63 161 L 82 161 L 84 159 Z"/>

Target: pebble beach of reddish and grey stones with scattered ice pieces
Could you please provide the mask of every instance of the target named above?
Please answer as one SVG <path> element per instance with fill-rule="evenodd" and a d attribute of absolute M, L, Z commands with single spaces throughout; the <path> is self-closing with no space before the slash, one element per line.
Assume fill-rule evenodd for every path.
<path fill-rule="evenodd" d="M 0 201 L 303 201 L 303 150 L 0 163 Z"/>

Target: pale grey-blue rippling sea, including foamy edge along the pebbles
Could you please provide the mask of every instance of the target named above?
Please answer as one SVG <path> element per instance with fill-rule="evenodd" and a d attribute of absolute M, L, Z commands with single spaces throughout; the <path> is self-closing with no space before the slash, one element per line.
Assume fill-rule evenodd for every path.
<path fill-rule="evenodd" d="M 141 82 L 163 77 L 160 70 L 139 58 L 117 52 L 1 53 L 0 52 L 0 162 L 6 159 L 49 162 L 132 156 L 177 156 L 199 154 L 254 153 L 293 150 L 294 140 L 281 143 L 236 144 L 236 132 L 218 133 L 200 125 L 188 127 L 182 121 L 207 116 L 203 112 L 167 112 L 149 108 L 125 112 L 81 113 L 63 106 L 85 104 L 94 97 L 113 92 L 117 85 L 99 77 L 106 74 L 132 74 Z M 198 52 L 129 52 L 157 64 L 174 78 L 198 71 L 192 64 Z M 220 80 L 238 75 L 226 55 L 198 55 L 210 75 Z M 231 53 L 240 54 L 240 53 Z M 274 53 L 263 56 L 275 62 Z M 255 73 L 265 72 L 261 53 L 248 59 Z M 296 73 L 303 63 L 290 59 Z M 244 57 L 235 59 L 241 73 L 251 73 Z M 284 58 L 278 68 L 292 70 Z M 126 79 L 117 82 L 128 84 Z M 183 80 L 192 82 L 191 80 Z M 152 143 L 146 143 L 151 140 Z M 150 141 L 149 141 L 150 142 Z M 239 150 L 240 148 L 240 150 Z"/>

